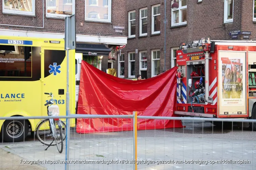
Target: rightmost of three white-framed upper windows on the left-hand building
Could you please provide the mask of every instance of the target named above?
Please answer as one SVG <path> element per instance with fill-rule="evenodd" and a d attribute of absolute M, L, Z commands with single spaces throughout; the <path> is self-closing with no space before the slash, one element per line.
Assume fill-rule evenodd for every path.
<path fill-rule="evenodd" d="M 85 20 L 111 22 L 111 0 L 85 0 Z"/>

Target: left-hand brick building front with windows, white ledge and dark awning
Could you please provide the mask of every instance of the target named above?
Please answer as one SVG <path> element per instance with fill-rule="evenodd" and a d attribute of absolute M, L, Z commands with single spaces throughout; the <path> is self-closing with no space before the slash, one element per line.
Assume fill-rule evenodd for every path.
<path fill-rule="evenodd" d="M 3 3 L 2 3 L 3 2 Z M 115 46 L 126 45 L 125 0 L 2 0 L 0 35 L 64 38 L 65 16 L 76 14 L 76 42 L 88 55 L 107 56 Z M 3 5 L 4 4 L 4 5 Z M 82 45 L 81 45 L 82 44 Z M 93 44 L 93 45 L 91 45 Z M 80 48 L 80 51 L 81 51 Z M 86 49 L 87 48 L 87 49 Z M 104 54 L 101 53 L 104 51 Z M 102 58 L 102 69 L 115 67 Z"/>

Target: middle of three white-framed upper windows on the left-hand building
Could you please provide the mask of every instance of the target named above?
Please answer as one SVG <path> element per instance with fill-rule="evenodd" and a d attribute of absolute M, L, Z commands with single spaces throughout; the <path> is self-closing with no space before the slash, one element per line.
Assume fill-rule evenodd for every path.
<path fill-rule="evenodd" d="M 75 13 L 75 0 L 46 0 L 46 16 L 65 17 Z"/>

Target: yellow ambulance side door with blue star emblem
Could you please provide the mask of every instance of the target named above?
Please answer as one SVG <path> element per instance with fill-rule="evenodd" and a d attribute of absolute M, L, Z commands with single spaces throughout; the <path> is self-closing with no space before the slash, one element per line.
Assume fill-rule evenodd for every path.
<path fill-rule="evenodd" d="M 43 52 L 43 80 L 42 99 L 46 103 L 51 99 L 44 93 L 52 92 L 55 104 L 58 104 L 60 115 L 66 115 L 66 89 L 67 89 L 67 61 L 66 51 L 42 48 Z M 47 116 L 47 107 L 43 105 L 42 115 Z M 64 121 L 64 120 L 63 120 Z"/>

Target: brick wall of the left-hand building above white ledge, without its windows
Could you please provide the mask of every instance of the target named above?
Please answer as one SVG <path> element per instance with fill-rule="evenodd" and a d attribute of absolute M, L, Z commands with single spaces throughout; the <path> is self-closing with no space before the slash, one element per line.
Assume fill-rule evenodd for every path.
<path fill-rule="evenodd" d="M 1 1 L 2 2 L 2 1 Z M 101 36 L 126 36 L 126 31 L 123 33 L 116 33 L 113 26 L 125 26 L 125 0 L 112 0 L 112 23 L 99 23 L 99 22 L 87 22 L 85 21 L 85 0 L 75 0 L 75 13 L 76 13 L 76 33 L 77 34 L 99 34 Z M 64 19 L 51 19 L 46 18 L 44 12 L 46 9 L 46 0 L 35 0 L 35 17 L 8 15 L 2 13 L 2 3 L 0 3 L 0 24 L 18 25 L 18 26 L 30 26 L 30 27 L 43 27 L 44 28 L 26 28 L 26 27 L 14 27 L 14 26 L 0 26 L 0 28 L 17 29 L 17 30 L 30 30 L 40 32 L 62 32 L 65 30 Z"/>

